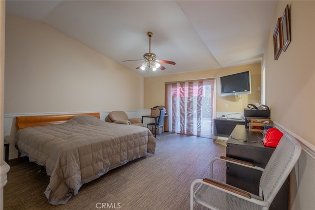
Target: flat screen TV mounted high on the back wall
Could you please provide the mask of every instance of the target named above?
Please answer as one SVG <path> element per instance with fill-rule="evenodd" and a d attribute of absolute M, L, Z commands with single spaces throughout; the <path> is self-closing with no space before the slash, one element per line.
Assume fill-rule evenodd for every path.
<path fill-rule="evenodd" d="M 221 95 L 251 94 L 251 72 L 245 71 L 221 77 Z"/>

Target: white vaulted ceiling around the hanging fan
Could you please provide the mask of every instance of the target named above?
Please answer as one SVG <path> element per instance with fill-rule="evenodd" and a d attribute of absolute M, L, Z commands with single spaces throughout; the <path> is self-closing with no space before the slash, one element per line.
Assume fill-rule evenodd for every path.
<path fill-rule="evenodd" d="M 6 12 L 50 25 L 135 69 L 149 52 L 163 64 L 151 76 L 261 60 L 277 0 L 7 0 Z"/>

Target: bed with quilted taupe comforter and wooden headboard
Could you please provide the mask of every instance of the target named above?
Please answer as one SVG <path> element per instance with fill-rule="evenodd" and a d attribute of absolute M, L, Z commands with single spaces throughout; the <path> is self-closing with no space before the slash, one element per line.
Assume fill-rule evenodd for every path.
<path fill-rule="evenodd" d="M 115 124 L 99 113 L 16 118 L 16 148 L 45 166 L 50 176 L 48 202 L 65 204 L 80 187 L 109 170 L 155 153 L 146 127 Z"/>

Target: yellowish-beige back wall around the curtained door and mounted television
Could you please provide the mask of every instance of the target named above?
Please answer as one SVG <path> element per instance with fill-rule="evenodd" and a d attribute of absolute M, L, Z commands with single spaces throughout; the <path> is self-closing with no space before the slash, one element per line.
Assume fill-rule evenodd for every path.
<path fill-rule="evenodd" d="M 167 71 L 167 69 L 165 69 L 165 71 Z M 236 95 L 221 96 L 220 77 L 243 71 L 251 71 L 252 94 L 243 95 L 240 99 Z M 244 108 L 247 107 L 247 104 L 249 104 L 250 102 L 260 101 L 260 91 L 257 91 L 257 88 L 261 86 L 261 63 L 254 63 L 220 69 L 203 70 L 182 74 L 169 74 L 164 76 L 145 78 L 144 108 L 150 109 L 151 107 L 157 105 L 164 105 L 165 82 L 185 81 L 211 77 L 217 77 L 217 112 L 244 112 Z M 225 104 L 228 104 L 227 108 L 225 107 Z"/>

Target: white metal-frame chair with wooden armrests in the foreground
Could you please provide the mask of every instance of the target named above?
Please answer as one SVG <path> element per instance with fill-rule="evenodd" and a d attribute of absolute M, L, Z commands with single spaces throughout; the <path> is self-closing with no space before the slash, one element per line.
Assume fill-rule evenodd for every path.
<path fill-rule="evenodd" d="M 293 137 L 284 134 L 264 169 L 228 157 L 212 159 L 211 177 L 194 180 L 190 185 L 190 210 L 193 210 L 196 203 L 211 210 L 268 210 L 300 154 L 300 144 Z M 259 195 L 213 179 L 213 163 L 217 160 L 262 171 Z M 199 187 L 194 190 L 196 184 L 199 184 Z"/>

